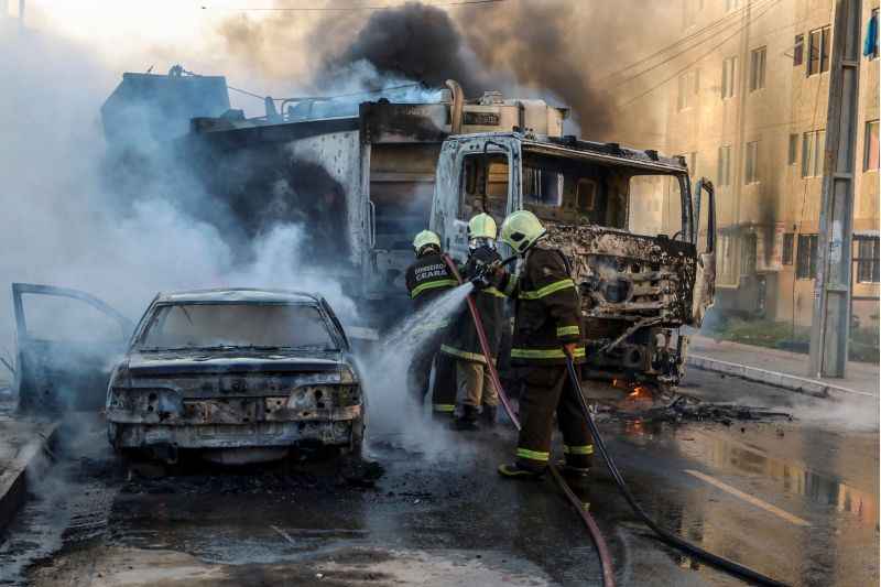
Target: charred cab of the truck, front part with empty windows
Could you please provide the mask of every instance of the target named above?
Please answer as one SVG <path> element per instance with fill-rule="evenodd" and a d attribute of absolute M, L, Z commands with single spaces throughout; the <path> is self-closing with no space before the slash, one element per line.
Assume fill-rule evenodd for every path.
<path fill-rule="evenodd" d="M 467 254 L 471 216 L 501 224 L 519 209 L 534 213 L 545 242 L 572 262 L 585 376 L 675 387 L 687 348 L 679 330 L 700 326 L 715 293 L 713 184 L 701 178 L 693 193 L 682 159 L 573 137 L 475 133 L 444 142 L 431 228 L 454 258 Z M 645 210 L 659 221 L 645 221 Z"/>

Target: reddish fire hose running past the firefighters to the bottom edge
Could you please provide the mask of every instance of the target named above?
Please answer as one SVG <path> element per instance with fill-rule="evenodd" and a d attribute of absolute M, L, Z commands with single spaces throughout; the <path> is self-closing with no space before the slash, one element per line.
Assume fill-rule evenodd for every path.
<path fill-rule="evenodd" d="M 511 259 L 505 260 L 504 262 L 510 262 L 510 260 Z M 445 254 L 444 261 L 446 262 L 453 275 L 456 276 L 456 281 L 461 284 L 461 275 L 459 275 L 459 270 L 456 268 L 456 263 L 453 262 L 453 259 Z M 466 301 L 468 303 L 468 311 L 471 313 L 471 319 L 475 323 L 477 338 L 480 341 L 480 349 L 483 351 L 483 358 L 487 360 L 487 369 L 489 369 L 489 376 L 492 380 L 492 384 L 496 385 L 496 389 L 499 391 L 499 399 L 502 401 L 502 405 L 504 406 L 504 411 L 508 413 L 508 417 L 511 418 L 514 427 L 519 431 L 520 420 L 516 417 L 516 414 L 511 406 L 511 401 L 508 399 L 508 395 L 502 389 L 501 381 L 499 380 L 499 372 L 496 370 L 496 363 L 492 361 L 492 352 L 490 350 L 489 340 L 487 339 L 487 333 L 483 329 L 483 320 L 480 319 L 480 314 L 477 312 L 474 296 L 468 294 Z M 597 550 L 600 565 L 602 567 L 602 585 L 605 587 L 614 587 L 614 569 L 612 568 L 612 558 L 609 554 L 609 546 L 606 544 L 606 539 L 602 537 L 602 533 L 599 531 L 597 522 L 594 521 L 594 518 L 587 511 L 584 503 L 581 503 L 581 500 L 578 499 L 575 492 L 566 483 L 566 480 L 563 479 L 563 476 L 559 474 L 559 470 L 557 470 L 556 466 L 551 464 L 548 468 L 551 469 L 551 475 L 554 477 L 554 481 L 556 481 L 557 486 L 559 486 L 561 491 L 563 491 L 563 494 L 566 496 L 566 499 L 568 499 L 573 504 L 575 511 L 578 512 L 581 521 L 587 526 L 588 532 L 590 532 L 590 536 L 594 540 L 594 545 Z"/>

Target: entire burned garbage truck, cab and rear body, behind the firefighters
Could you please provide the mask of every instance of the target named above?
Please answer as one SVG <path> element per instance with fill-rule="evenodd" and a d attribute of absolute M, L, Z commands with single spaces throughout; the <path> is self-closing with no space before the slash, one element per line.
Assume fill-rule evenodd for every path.
<path fill-rule="evenodd" d="M 156 104 L 141 85 L 166 98 L 186 84 L 220 91 L 206 79 L 214 78 L 126 74 L 102 111 L 111 151 L 128 149 L 113 129 L 137 128 L 128 119 Z M 244 118 L 228 109 L 224 84 L 222 96 L 203 102 L 211 108 L 191 108 L 165 139 L 173 167 L 186 172 L 177 180 L 182 205 L 193 191 L 206 194 L 210 205 L 199 200 L 192 211 L 231 239 L 279 222 L 305 227 L 292 262 L 311 261 L 297 267 L 333 276 L 359 303 L 358 319 L 368 322 L 347 324 L 354 338 L 361 330 L 351 326 L 381 329 L 399 317 L 401 304 L 390 302 L 405 303 L 414 233 L 429 226 L 464 259 L 474 214 L 501 224 L 530 209 L 573 261 L 588 376 L 675 385 L 687 347 L 679 329 L 699 326 L 713 303 L 711 184 L 693 189 L 678 157 L 563 137 L 567 110 L 542 100 L 465 99 L 452 80 L 395 100 L 268 98 L 265 116 Z M 664 221 L 646 228 L 640 217 L 649 207 L 663 207 Z"/>

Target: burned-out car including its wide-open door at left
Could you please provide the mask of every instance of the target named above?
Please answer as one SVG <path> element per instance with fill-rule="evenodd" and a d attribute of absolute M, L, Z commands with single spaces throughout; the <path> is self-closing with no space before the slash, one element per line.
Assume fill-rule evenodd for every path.
<path fill-rule="evenodd" d="M 360 452 L 365 398 L 349 341 L 307 293 L 160 294 L 134 326 L 76 290 L 14 283 L 22 412 L 106 409 L 110 444 L 239 463 L 291 448 Z"/>

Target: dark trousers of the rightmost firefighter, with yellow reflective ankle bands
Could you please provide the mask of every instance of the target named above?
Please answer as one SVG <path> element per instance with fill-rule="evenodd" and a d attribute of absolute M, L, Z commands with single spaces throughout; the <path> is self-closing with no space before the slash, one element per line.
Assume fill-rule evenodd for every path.
<path fill-rule="evenodd" d="M 576 367 L 580 377 L 580 368 Z M 566 464 L 573 467 L 590 467 L 594 439 L 585 422 L 581 409 L 569 381 L 565 365 L 530 367 L 525 374 L 525 389 L 520 399 L 520 438 L 518 441 L 518 465 L 543 470 L 551 456 L 551 437 L 554 414 L 563 433 L 563 452 Z"/>

